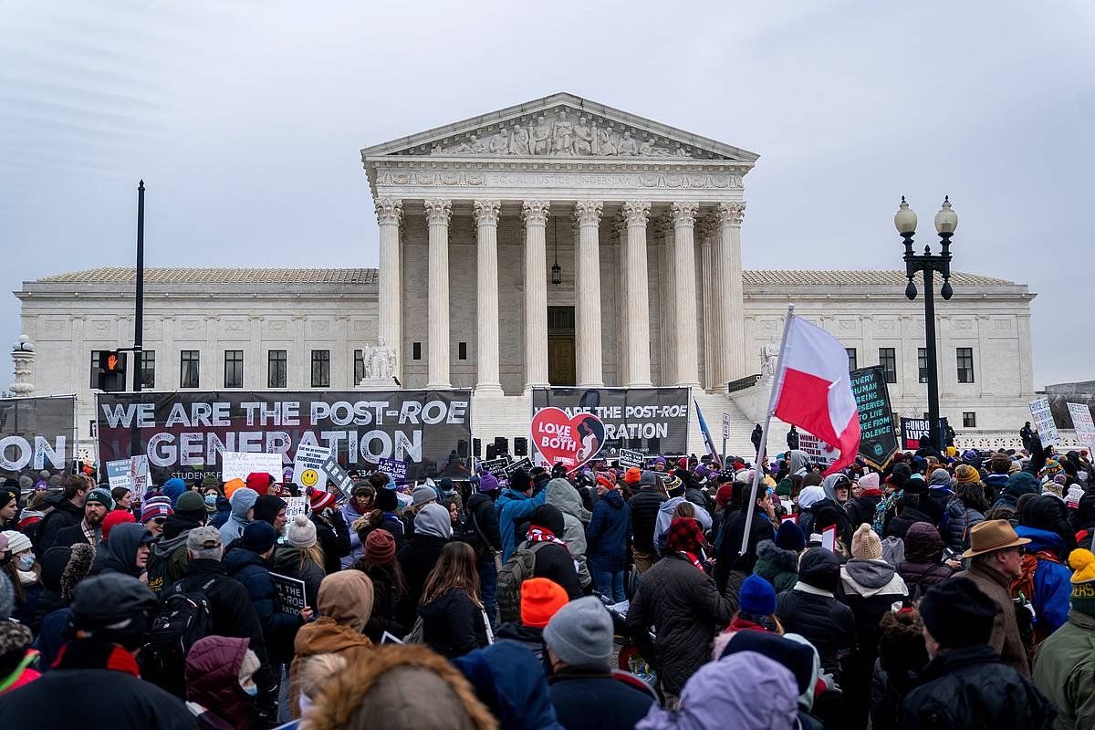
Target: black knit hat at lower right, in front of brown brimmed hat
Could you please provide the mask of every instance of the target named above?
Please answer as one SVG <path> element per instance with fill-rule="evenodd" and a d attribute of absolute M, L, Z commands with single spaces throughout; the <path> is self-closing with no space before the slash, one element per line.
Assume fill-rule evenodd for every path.
<path fill-rule="evenodd" d="M 998 613 L 995 602 L 965 578 L 948 578 L 932 586 L 920 602 L 924 627 L 947 649 L 988 644 Z"/>

